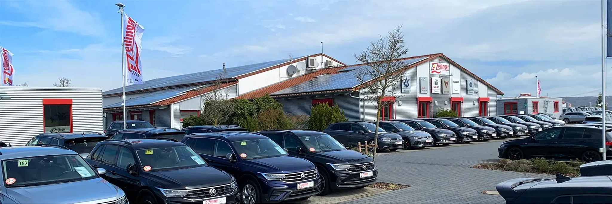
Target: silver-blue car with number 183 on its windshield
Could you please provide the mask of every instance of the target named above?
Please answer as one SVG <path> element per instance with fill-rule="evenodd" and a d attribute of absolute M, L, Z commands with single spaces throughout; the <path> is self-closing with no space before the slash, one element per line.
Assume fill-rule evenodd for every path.
<path fill-rule="evenodd" d="M 100 178 L 106 170 L 92 169 L 64 146 L 2 148 L 0 158 L 2 203 L 128 203 L 119 187 Z"/>

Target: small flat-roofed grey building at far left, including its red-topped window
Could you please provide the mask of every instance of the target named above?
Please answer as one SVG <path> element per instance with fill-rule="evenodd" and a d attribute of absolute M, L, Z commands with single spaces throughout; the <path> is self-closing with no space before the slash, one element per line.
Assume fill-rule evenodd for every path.
<path fill-rule="evenodd" d="M 24 145 L 45 130 L 103 132 L 102 89 L 0 86 L 0 93 L 10 97 L 0 99 L 0 140 L 4 143 Z"/>

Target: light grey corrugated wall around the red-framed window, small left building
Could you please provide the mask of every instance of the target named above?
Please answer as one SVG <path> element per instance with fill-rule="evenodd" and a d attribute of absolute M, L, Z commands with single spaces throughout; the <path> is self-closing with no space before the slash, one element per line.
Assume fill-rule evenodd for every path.
<path fill-rule="evenodd" d="M 0 87 L 0 140 L 24 145 L 43 132 L 42 99 L 72 99 L 73 132 L 103 131 L 102 89 Z"/>

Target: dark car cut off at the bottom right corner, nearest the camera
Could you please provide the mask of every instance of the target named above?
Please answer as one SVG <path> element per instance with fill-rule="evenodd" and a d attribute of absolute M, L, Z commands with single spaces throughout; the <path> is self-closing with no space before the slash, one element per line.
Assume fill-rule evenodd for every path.
<path fill-rule="evenodd" d="M 496 189 L 509 204 L 612 203 L 612 176 L 516 178 L 499 183 Z"/>

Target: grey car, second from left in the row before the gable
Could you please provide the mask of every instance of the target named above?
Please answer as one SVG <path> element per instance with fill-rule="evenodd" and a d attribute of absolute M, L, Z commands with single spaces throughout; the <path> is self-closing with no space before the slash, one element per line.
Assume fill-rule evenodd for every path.
<path fill-rule="evenodd" d="M 428 132 L 416 130 L 400 121 L 380 121 L 380 127 L 387 132 L 395 132 L 404 140 L 404 149 L 433 146 L 433 137 Z"/>

